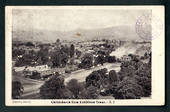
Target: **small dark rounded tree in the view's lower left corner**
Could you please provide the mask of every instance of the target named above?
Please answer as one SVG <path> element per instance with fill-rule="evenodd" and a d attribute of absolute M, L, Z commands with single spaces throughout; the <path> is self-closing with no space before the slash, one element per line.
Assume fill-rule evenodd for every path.
<path fill-rule="evenodd" d="M 23 94 L 24 87 L 20 81 L 12 81 L 12 98 L 18 99 Z"/>

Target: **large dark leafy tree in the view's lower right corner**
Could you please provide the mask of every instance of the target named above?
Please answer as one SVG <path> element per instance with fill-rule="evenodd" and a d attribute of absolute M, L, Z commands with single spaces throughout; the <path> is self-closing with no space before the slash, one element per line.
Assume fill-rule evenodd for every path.
<path fill-rule="evenodd" d="M 151 65 L 140 61 L 122 63 L 118 73 L 120 82 L 117 84 L 115 96 L 118 99 L 136 99 L 151 95 Z"/>

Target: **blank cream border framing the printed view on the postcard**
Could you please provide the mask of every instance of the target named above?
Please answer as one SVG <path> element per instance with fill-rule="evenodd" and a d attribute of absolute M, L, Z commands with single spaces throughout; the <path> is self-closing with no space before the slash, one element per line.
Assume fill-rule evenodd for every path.
<path fill-rule="evenodd" d="M 152 40 L 152 97 L 135 100 L 13 100 L 11 98 L 12 67 L 12 9 L 152 9 L 152 15 L 159 18 L 163 29 L 159 38 Z M 5 7 L 5 104 L 7 106 L 149 106 L 165 104 L 165 11 L 164 6 L 6 6 Z M 17 102 L 16 102 L 17 101 Z M 77 103 L 52 103 L 53 101 L 78 101 Z M 80 103 L 81 101 L 105 101 L 107 103 Z M 109 103 L 111 101 L 111 103 Z"/>

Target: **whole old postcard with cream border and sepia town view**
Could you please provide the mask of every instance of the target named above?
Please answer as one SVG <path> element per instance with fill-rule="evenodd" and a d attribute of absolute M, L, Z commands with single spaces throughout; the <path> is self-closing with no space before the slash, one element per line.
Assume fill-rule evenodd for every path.
<path fill-rule="evenodd" d="M 165 104 L 164 6 L 7 6 L 7 106 Z"/>

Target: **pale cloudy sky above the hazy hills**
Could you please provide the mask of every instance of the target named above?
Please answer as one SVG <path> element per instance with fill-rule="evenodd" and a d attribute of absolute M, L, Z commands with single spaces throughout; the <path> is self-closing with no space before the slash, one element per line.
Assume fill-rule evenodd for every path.
<path fill-rule="evenodd" d="M 100 29 L 112 26 L 134 26 L 148 10 L 125 9 L 13 9 L 14 30 L 73 31 Z"/>

